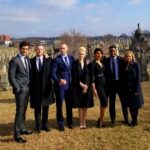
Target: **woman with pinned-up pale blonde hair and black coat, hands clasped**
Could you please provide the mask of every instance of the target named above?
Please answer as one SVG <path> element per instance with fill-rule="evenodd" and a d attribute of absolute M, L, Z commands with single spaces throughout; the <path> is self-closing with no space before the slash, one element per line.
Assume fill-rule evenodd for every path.
<path fill-rule="evenodd" d="M 73 64 L 73 108 L 79 108 L 80 129 L 85 129 L 87 108 L 94 104 L 85 47 L 80 47 L 78 54 L 78 59 Z"/>

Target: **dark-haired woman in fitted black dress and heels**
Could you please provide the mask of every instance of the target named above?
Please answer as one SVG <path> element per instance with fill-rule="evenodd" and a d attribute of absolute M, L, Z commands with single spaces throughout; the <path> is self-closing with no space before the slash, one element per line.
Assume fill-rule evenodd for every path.
<path fill-rule="evenodd" d="M 104 115 L 108 105 L 105 91 L 104 65 L 102 64 L 103 51 L 99 48 L 94 50 L 95 60 L 92 62 L 93 68 L 93 92 L 100 99 L 100 115 L 97 121 L 97 127 L 105 127 Z"/>

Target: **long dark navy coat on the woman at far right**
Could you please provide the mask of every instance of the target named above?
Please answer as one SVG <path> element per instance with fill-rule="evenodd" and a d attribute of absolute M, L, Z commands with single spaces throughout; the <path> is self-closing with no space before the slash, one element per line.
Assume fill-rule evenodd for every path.
<path fill-rule="evenodd" d="M 144 104 L 141 89 L 141 72 L 138 63 L 132 62 L 125 70 L 127 101 L 129 106 L 141 107 Z M 135 93 L 138 95 L 135 96 Z"/>

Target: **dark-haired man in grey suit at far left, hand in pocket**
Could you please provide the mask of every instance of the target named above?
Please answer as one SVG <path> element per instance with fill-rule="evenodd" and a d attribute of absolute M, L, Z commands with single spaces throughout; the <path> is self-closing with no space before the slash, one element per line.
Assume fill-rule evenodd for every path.
<path fill-rule="evenodd" d="M 16 116 L 14 124 L 14 140 L 25 143 L 21 134 L 32 134 L 25 128 L 25 114 L 29 98 L 30 61 L 28 58 L 29 43 L 22 41 L 19 45 L 19 54 L 9 62 L 8 79 L 13 87 L 16 99 Z"/>

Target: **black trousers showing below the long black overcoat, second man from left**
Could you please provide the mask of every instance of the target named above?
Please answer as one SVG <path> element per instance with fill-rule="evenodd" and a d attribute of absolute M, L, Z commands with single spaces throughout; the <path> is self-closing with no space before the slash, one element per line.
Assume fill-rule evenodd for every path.
<path fill-rule="evenodd" d="M 36 129 L 47 127 L 49 106 L 42 107 L 39 105 L 34 110 Z"/>

